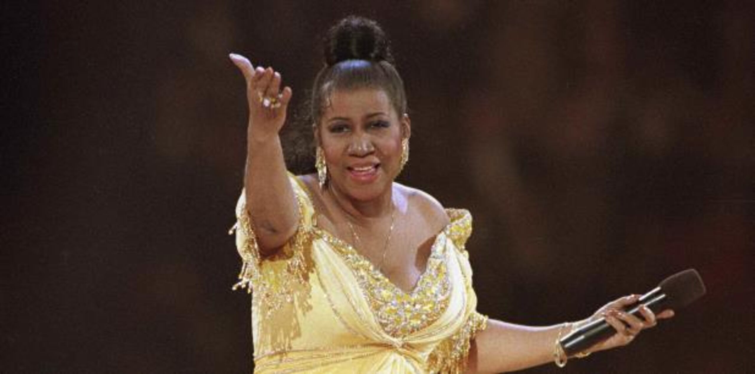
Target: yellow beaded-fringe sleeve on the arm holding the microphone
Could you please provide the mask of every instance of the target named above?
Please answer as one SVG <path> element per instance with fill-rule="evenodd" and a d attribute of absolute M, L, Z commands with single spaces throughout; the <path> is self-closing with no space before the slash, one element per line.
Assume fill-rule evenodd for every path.
<path fill-rule="evenodd" d="M 472 215 L 464 209 L 447 209 L 446 212 L 451 224 L 446 227 L 445 233 L 458 249 L 457 258 L 467 292 L 467 311 L 461 328 L 433 349 L 427 363 L 430 372 L 457 374 L 467 368 L 472 341 L 478 332 L 487 327 L 488 317 L 476 311 L 477 296 L 472 287 L 472 268 L 466 250 L 467 240 L 472 234 Z"/>

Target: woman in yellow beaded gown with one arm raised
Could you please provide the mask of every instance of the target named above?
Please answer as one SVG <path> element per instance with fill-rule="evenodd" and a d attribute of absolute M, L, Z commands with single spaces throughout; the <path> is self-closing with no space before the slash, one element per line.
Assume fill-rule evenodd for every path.
<path fill-rule="evenodd" d="M 547 327 L 476 312 L 464 243 L 469 212 L 394 180 L 408 160 L 411 121 L 387 39 L 347 17 L 325 40 L 311 115 L 316 175 L 285 168 L 279 130 L 291 88 L 232 54 L 250 118 L 236 244 L 237 286 L 254 289 L 256 372 L 505 372 L 568 359 L 556 342 L 605 317 L 615 335 L 579 356 L 626 345 L 659 318 L 621 309 Z"/>

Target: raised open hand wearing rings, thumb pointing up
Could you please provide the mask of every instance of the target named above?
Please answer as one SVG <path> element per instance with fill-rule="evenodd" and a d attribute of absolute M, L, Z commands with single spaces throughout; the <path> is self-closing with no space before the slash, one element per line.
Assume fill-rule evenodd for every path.
<path fill-rule="evenodd" d="M 240 54 L 230 54 L 231 61 L 241 70 L 246 80 L 246 98 L 249 105 L 248 138 L 267 141 L 276 137 L 283 127 L 291 88 L 281 91 L 280 73 L 268 67 L 254 69 L 249 60 Z"/>

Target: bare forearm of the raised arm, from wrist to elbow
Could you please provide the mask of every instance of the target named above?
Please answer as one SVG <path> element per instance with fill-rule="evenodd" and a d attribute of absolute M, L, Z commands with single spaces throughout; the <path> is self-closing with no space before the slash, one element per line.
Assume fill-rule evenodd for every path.
<path fill-rule="evenodd" d="M 294 234 L 298 209 L 280 138 L 276 135 L 258 140 L 250 134 L 247 144 L 244 173 L 247 210 L 260 250 L 270 253 Z"/>

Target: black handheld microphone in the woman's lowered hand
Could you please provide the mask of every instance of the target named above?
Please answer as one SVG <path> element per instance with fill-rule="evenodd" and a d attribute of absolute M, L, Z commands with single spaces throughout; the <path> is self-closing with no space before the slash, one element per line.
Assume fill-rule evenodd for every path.
<path fill-rule="evenodd" d="M 636 303 L 628 305 L 625 311 L 643 319 L 642 314 L 639 313 L 640 304 L 645 304 L 653 313 L 666 309 L 676 311 L 686 307 L 704 294 L 705 285 L 698 271 L 687 269 L 667 277 L 658 284 L 658 287 L 640 296 Z M 592 347 L 615 333 L 616 330 L 613 326 L 609 325 L 605 318 L 601 318 L 564 336 L 559 340 L 559 344 L 566 356 L 569 357 Z"/>

